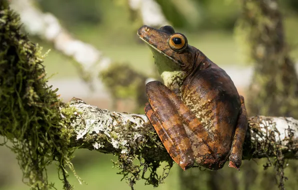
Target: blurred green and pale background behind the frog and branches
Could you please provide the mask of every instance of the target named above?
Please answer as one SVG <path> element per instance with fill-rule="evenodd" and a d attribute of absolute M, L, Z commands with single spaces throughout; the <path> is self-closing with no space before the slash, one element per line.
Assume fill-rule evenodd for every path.
<path fill-rule="evenodd" d="M 135 2 L 134 2 L 135 1 Z M 39 11 L 49 12 L 54 15 L 63 29 L 68 31 L 73 38 L 91 44 L 103 56 L 108 57 L 112 63 L 124 65 L 133 71 L 124 72 L 123 67 L 115 67 L 116 74 L 104 76 L 115 79 L 110 83 L 117 83 L 116 76 L 123 74 L 122 79 L 133 78 L 135 75 L 158 78 L 152 54 L 147 46 L 142 43 L 136 30 L 143 25 L 141 9 L 131 8 L 130 3 L 138 0 L 11 0 L 12 3 L 30 3 Z M 153 1 L 153 0 L 152 0 Z M 238 91 L 247 95 L 247 87 L 252 77 L 254 63 L 246 59 L 245 50 L 241 48 L 241 40 L 235 27 L 241 17 L 242 0 L 155 0 L 161 8 L 169 24 L 175 30 L 185 34 L 188 43 L 199 48 L 212 61 L 223 67 L 233 79 Z M 298 1 L 279 0 L 279 9 L 283 15 L 284 32 L 288 42 L 292 60 L 298 60 Z M 11 6 L 13 8 L 13 6 Z M 16 9 L 19 11 L 19 9 Z M 36 23 L 38 19 L 36 18 Z M 33 21 L 34 23 L 34 21 Z M 38 24 L 37 24 L 38 25 Z M 43 46 L 44 52 L 51 49 L 44 65 L 49 78 L 49 84 L 58 87 L 61 98 L 67 102 L 72 96 L 79 97 L 85 102 L 99 108 L 142 113 L 143 106 L 134 93 L 119 88 L 112 89 L 105 86 L 101 80 L 96 80 L 91 89 L 88 82 L 81 77 L 81 70 L 73 57 L 61 52 L 52 42 L 45 40 L 40 35 L 32 35 L 33 42 Z M 244 44 L 245 45 L 245 44 Z M 86 53 L 87 56 L 87 53 Z M 117 69 L 118 68 L 118 69 Z M 132 76 L 133 75 L 133 76 Z M 120 77 L 120 80 L 121 80 Z M 104 78 L 103 78 L 104 81 Z M 136 87 L 143 94 L 144 88 Z M 115 95 L 116 94 L 116 95 Z M 141 96 L 141 95 L 140 95 Z M 77 174 L 88 184 L 80 185 L 70 173 L 70 182 L 75 189 L 130 189 L 122 176 L 116 174 L 117 168 L 112 168 L 111 159 L 117 157 L 102 154 L 96 151 L 77 150 L 73 164 Z M 165 183 L 156 189 L 277 189 L 275 171 L 273 167 L 263 169 L 265 160 L 244 161 L 241 171 L 228 168 L 209 172 L 199 171 L 197 168 L 189 169 L 189 179 L 185 176 L 181 180 L 181 169 L 174 164 Z M 298 163 L 289 162 L 285 169 L 287 189 L 298 189 Z M 187 174 L 186 174 L 187 175 Z M 15 154 L 7 147 L 0 146 L 0 189 L 28 189 L 22 183 L 22 173 L 17 165 Z M 195 177 L 193 177 L 195 176 Z M 58 179 L 55 165 L 48 168 L 48 178 L 55 182 L 57 189 L 62 189 Z M 185 187 L 184 184 L 195 181 L 195 188 Z M 140 180 L 135 189 L 153 189 L 144 185 Z"/>

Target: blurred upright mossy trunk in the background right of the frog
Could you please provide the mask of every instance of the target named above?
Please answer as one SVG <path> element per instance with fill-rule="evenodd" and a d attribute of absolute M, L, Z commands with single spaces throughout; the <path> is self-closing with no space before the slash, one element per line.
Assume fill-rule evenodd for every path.
<path fill-rule="evenodd" d="M 278 0 L 242 0 L 242 14 L 235 28 L 240 45 L 246 49 L 247 61 L 254 63 L 253 77 L 247 89 L 247 109 L 250 115 L 298 116 L 298 78 L 290 45 L 285 40 L 284 20 Z M 285 13 L 286 14 L 286 13 Z M 285 189 L 284 168 L 287 161 L 276 157 L 276 172 L 263 172 L 263 187 Z M 297 162 L 289 161 L 290 168 Z M 272 165 L 265 163 L 264 165 Z M 257 173 L 256 165 L 247 162 L 244 168 Z M 266 167 L 265 167 L 266 168 Z M 256 180 L 247 178 L 249 187 Z"/>

